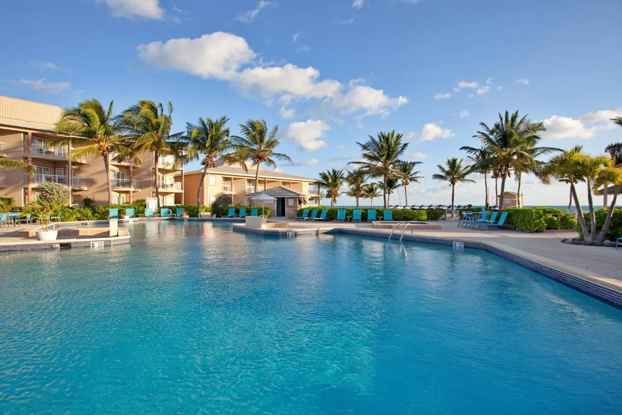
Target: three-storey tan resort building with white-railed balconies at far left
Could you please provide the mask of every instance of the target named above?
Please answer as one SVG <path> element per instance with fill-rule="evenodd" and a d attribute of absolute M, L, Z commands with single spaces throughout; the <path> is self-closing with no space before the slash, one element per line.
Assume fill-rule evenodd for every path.
<path fill-rule="evenodd" d="M 108 204 L 108 184 L 101 157 L 70 159 L 69 146 L 48 148 L 45 143 L 57 137 L 54 127 L 63 113 L 60 106 L 0 96 L 0 157 L 27 162 L 35 169 L 28 177 L 19 170 L 0 172 L 0 196 L 13 197 L 18 206 L 37 194 L 40 184 L 57 182 L 68 185 L 73 203 L 85 197 L 95 204 Z M 159 186 L 160 205 L 173 205 L 175 195 L 183 192 L 175 181 L 177 166 L 173 156 L 160 156 L 158 177 L 152 154 L 144 153 L 141 163 L 110 162 L 113 180 L 113 203 L 132 203 L 137 199 L 156 197 Z M 196 198 L 196 194 L 195 194 Z"/>

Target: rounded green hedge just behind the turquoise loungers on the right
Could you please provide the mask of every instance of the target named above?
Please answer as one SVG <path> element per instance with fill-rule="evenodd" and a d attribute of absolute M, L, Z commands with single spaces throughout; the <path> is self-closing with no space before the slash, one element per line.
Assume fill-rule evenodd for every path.
<path fill-rule="evenodd" d="M 557 215 L 562 217 L 562 229 L 573 229 L 577 225 L 575 219 L 562 209 L 549 207 L 509 208 L 506 223 L 519 231 L 542 232 L 545 229 L 559 229 Z"/>

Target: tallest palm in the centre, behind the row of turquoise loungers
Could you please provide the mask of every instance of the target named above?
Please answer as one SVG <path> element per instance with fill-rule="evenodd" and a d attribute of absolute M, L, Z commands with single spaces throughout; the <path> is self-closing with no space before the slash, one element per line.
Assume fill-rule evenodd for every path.
<path fill-rule="evenodd" d="M 363 161 L 353 161 L 348 164 L 357 164 L 363 167 L 371 177 L 381 177 L 383 183 L 384 207 L 387 207 L 386 181 L 392 179 L 397 173 L 397 164 L 404 155 L 408 143 L 402 142 L 402 134 L 396 134 L 395 130 L 385 133 L 379 131 L 376 138 L 368 136 L 364 144 L 357 142 L 361 147 Z"/>

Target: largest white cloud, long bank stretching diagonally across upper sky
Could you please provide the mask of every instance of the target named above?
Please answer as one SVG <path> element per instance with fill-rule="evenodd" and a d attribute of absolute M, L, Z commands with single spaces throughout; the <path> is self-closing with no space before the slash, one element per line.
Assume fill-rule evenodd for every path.
<path fill-rule="evenodd" d="M 225 32 L 196 39 L 151 42 L 139 45 L 137 51 L 139 58 L 152 67 L 225 80 L 244 94 L 259 94 L 267 101 L 278 98 L 284 105 L 294 100 L 318 99 L 329 110 L 386 116 L 408 102 L 405 96 L 392 98 L 383 90 L 358 82 L 342 85 L 337 80 L 320 80 L 320 71 L 313 67 L 300 68 L 292 63 L 263 65 L 261 60 L 256 62 L 257 55 L 243 37 Z M 255 66 L 251 67 L 253 63 Z"/>

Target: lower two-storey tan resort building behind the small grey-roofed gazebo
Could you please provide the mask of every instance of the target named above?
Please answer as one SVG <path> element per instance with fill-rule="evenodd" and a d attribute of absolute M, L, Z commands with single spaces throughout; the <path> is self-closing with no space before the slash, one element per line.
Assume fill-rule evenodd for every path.
<path fill-rule="evenodd" d="M 253 167 L 249 166 L 245 170 L 242 167 L 226 166 L 221 161 L 216 164 L 218 166 L 208 169 L 203 178 L 199 194 L 202 205 L 211 205 L 220 195 L 231 195 L 233 203 L 262 206 L 263 203 L 254 203 L 251 198 L 265 193 L 276 198 L 272 203 L 265 203 L 271 210 L 271 216 L 290 217 L 296 216 L 300 207 L 313 202 L 318 195 L 315 184 L 317 179 L 259 169 L 259 183 L 255 187 L 256 169 Z M 185 203 L 196 203 L 202 174 L 203 170 L 183 174 Z M 175 174 L 175 177 L 177 182 L 181 181 L 180 173 Z"/>

